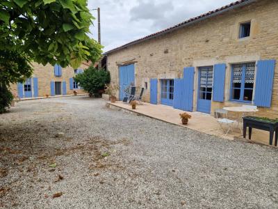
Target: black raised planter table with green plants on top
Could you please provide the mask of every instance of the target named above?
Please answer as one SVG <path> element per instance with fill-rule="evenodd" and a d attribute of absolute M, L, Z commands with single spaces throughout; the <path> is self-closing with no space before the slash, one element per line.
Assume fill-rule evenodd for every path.
<path fill-rule="evenodd" d="M 246 137 L 246 129 L 249 127 L 249 139 L 251 139 L 252 128 L 259 130 L 265 130 L 270 132 L 269 144 L 272 145 L 273 135 L 275 132 L 275 146 L 277 146 L 278 141 L 278 122 L 263 121 L 259 118 L 247 116 L 243 117 L 243 137 Z"/>

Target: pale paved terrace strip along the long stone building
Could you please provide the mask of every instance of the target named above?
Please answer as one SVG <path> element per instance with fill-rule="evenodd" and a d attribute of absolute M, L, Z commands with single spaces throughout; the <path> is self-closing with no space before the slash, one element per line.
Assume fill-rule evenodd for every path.
<path fill-rule="evenodd" d="M 131 105 L 125 104 L 122 101 L 117 101 L 115 103 L 106 102 L 106 106 L 110 107 L 111 109 L 120 108 L 126 111 L 132 111 L 138 114 L 149 116 L 151 118 L 156 118 L 160 121 L 172 123 L 174 125 L 180 125 L 182 127 L 188 127 L 192 130 L 197 130 L 199 132 L 211 134 L 213 136 L 222 137 L 225 139 L 243 139 L 243 134 L 240 133 L 239 127 L 234 127 L 231 132 L 229 132 L 227 136 L 225 136 L 216 118 L 209 114 L 203 114 L 197 111 L 190 113 L 192 115 L 192 118 L 189 119 L 188 125 L 182 125 L 179 114 L 183 113 L 184 111 L 174 109 L 163 104 L 144 103 L 143 105 L 136 105 L 136 109 L 131 109 Z M 269 132 L 253 129 L 252 142 L 268 145 Z"/>

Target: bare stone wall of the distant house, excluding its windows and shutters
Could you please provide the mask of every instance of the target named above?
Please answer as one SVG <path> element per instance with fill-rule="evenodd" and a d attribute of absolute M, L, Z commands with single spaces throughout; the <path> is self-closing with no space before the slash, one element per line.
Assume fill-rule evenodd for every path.
<path fill-rule="evenodd" d="M 57 77 L 54 75 L 54 66 L 47 64 L 41 65 L 38 63 L 32 63 L 33 65 L 33 75 L 32 77 L 38 77 L 38 97 L 45 97 L 46 95 L 51 95 L 50 82 L 66 82 L 67 95 L 72 95 L 73 91 L 76 91 L 78 94 L 85 93 L 82 89 L 70 89 L 70 78 L 74 77 L 74 69 L 71 67 L 62 68 L 62 76 Z M 88 68 L 87 63 L 81 64 L 79 69 Z M 32 91 L 33 91 L 32 85 Z M 12 84 L 10 86 L 14 95 L 17 94 L 17 84 Z M 63 88 L 63 87 L 61 87 Z"/>

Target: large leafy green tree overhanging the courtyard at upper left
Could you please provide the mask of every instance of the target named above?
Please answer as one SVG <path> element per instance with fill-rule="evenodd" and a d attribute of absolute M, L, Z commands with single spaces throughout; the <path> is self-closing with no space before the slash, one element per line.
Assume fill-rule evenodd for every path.
<path fill-rule="evenodd" d="M 31 61 L 73 68 L 97 61 L 101 45 L 88 36 L 93 20 L 86 0 L 0 1 L 1 83 L 30 77 Z"/>

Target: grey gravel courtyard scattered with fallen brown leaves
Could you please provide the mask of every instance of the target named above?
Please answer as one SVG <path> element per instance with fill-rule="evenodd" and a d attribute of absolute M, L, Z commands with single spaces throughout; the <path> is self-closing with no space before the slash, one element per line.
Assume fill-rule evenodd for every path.
<path fill-rule="evenodd" d="M 0 115 L 0 208 L 278 208 L 278 149 L 85 96 Z"/>

